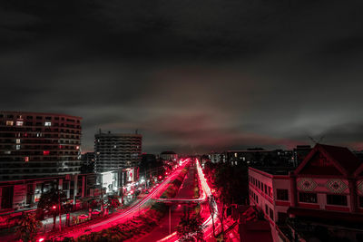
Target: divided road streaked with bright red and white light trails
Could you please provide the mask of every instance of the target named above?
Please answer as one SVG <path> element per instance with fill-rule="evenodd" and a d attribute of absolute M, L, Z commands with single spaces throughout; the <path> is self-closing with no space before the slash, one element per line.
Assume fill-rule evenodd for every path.
<path fill-rule="evenodd" d="M 118 211 L 112 216 L 108 218 L 104 218 L 102 220 L 95 220 L 92 224 L 80 225 L 78 227 L 69 227 L 68 230 L 64 230 L 62 233 L 58 234 L 47 234 L 47 237 L 79 237 L 87 233 L 101 231 L 103 228 L 112 227 L 116 224 L 122 224 L 127 222 L 128 219 L 132 219 L 138 216 L 140 213 L 143 213 L 148 209 L 149 201 L 155 198 L 159 198 L 162 195 L 162 192 L 168 188 L 169 183 L 175 179 L 182 169 L 187 165 L 188 162 L 185 162 L 181 167 L 174 170 L 172 174 L 162 181 L 162 183 L 152 189 L 152 191 L 145 196 L 144 198 L 135 202 L 132 207 Z M 194 163 L 194 162 L 193 162 Z M 204 175 L 201 170 L 201 166 L 199 162 L 195 162 L 195 165 L 191 165 L 191 168 L 188 170 L 188 173 L 183 180 L 182 187 L 179 189 L 178 194 L 173 201 L 173 205 L 171 206 L 171 217 L 165 216 L 161 219 L 161 222 L 158 227 L 155 227 L 151 233 L 148 233 L 144 237 L 139 237 L 137 239 L 130 239 L 130 241 L 137 242 L 147 242 L 147 241 L 177 241 L 178 237 L 176 236 L 175 226 L 179 223 L 180 218 L 183 213 L 183 204 L 185 201 L 191 202 L 200 202 L 201 200 L 206 201 L 208 197 L 211 196 L 211 189 L 207 183 L 207 180 L 204 178 Z M 197 172 L 199 179 L 199 187 L 201 190 L 200 198 L 193 198 L 193 189 L 194 189 L 194 174 Z M 178 204 L 179 203 L 179 204 Z M 182 204 L 181 204 L 182 203 Z M 215 203 L 211 203 L 211 206 L 214 209 L 218 210 L 217 205 Z M 203 226 L 204 228 L 204 237 L 207 241 L 213 241 L 213 229 L 212 229 L 212 219 L 211 213 L 209 211 L 209 204 L 205 202 L 201 205 L 201 217 L 203 218 Z M 169 219 L 171 218 L 171 224 Z M 217 215 L 214 215 L 214 221 L 217 221 Z M 219 224 L 216 223 L 216 227 L 220 227 Z M 171 233 L 169 231 L 171 229 Z M 10 241 L 10 240 L 8 240 Z"/>

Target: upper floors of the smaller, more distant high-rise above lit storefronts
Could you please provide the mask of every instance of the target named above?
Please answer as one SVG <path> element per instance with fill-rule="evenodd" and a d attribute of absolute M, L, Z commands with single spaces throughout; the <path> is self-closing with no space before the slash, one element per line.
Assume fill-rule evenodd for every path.
<path fill-rule="evenodd" d="M 138 166 L 142 157 L 142 135 L 100 133 L 94 135 L 96 172 Z"/>

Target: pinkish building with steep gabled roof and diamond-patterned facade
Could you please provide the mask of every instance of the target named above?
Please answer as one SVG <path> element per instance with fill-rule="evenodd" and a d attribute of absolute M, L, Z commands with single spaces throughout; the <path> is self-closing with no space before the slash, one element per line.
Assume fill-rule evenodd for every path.
<path fill-rule="evenodd" d="M 250 204 L 270 221 L 274 241 L 286 240 L 280 227 L 287 218 L 308 220 L 309 227 L 334 221 L 342 234 L 352 235 L 354 227 L 363 235 L 356 227 L 363 224 L 363 164 L 346 148 L 317 144 L 290 171 L 249 168 L 249 188 Z"/>

